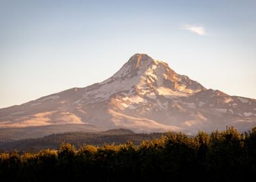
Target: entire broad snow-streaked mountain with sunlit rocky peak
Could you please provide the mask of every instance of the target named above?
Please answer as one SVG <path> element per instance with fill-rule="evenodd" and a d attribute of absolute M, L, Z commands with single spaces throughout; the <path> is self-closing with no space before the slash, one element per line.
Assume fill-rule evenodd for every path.
<path fill-rule="evenodd" d="M 88 125 L 94 131 L 122 127 L 193 134 L 229 125 L 247 131 L 255 123 L 255 99 L 207 89 L 146 54 L 133 55 L 101 83 L 0 109 L 2 129 Z"/>

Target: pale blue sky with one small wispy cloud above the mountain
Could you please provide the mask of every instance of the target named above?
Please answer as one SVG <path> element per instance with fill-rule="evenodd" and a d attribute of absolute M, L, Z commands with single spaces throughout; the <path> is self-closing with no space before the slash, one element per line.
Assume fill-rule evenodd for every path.
<path fill-rule="evenodd" d="M 0 0 L 0 108 L 103 81 L 135 53 L 256 99 L 255 2 Z"/>

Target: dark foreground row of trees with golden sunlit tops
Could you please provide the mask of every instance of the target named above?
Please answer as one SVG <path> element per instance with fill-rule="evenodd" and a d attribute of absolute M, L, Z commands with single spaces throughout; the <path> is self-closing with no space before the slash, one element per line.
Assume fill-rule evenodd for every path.
<path fill-rule="evenodd" d="M 195 136 L 167 133 L 139 145 L 0 153 L 0 181 L 245 181 L 256 174 L 256 127 Z"/>

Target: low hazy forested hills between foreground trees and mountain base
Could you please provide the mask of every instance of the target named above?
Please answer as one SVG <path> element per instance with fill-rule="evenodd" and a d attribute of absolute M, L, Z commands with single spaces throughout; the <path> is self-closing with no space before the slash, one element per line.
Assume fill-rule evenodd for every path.
<path fill-rule="evenodd" d="M 57 149 L 61 143 L 71 143 L 76 148 L 84 144 L 104 146 L 104 144 L 125 144 L 131 141 L 139 145 L 143 140 L 161 138 L 166 133 L 134 133 L 129 129 L 110 129 L 101 132 L 69 132 L 47 135 L 42 138 L 27 138 L 12 142 L 1 142 L 0 151 L 37 152 L 41 149 Z"/>

